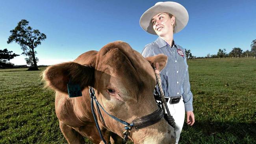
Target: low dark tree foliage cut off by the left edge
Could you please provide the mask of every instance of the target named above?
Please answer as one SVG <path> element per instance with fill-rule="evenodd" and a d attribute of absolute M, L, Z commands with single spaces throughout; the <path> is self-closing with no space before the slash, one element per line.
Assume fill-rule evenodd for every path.
<path fill-rule="evenodd" d="M 19 55 L 11 54 L 12 52 L 8 51 L 7 48 L 0 50 L 0 68 L 13 67 L 13 63 L 10 63 L 9 60 Z"/>

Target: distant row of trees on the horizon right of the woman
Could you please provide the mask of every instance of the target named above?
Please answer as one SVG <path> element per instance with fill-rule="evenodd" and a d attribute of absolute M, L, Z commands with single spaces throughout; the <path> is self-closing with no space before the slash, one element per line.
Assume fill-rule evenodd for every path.
<path fill-rule="evenodd" d="M 205 57 L 196 57 L 191 54 L 190 50 L 185 49 L 185 55 L 187 59 L 205 59 L 205 58 L 223 58 L 223 57 L 256 57 L 256 39 L 254 39 L 250 45 L 251 50 L 246 50 L 243 52 L 241 48 L 233 48 L 231 52 L 227 53 L 226 49 L 219 49 L 217 54 L 207 54 Z"/>

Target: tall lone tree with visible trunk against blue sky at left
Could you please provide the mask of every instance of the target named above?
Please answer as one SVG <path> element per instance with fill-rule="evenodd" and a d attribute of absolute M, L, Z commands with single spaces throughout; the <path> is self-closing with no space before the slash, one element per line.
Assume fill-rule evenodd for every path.
<path fill-rule="evenodd" d="M 33 30 L 28 26 L 29 22 L 27 20 L 21 20 L 15 29 L 11 30 L 11 35 L 8 38 L 7 43 L 15 41 L 21 46 L 21 49 L 24 51 L 22 54 L 26 55 L 26 61 L 33 61 L 33 68 L 31 70 L 38 70 L 37 61 L 38 58 L 35 57 L 35 48 L 41 44 L 41 41 L 46 39 L 46 35 L 41 33 L 39 30 Z M 28 61 L 27 61 L 28 63 Z"/>

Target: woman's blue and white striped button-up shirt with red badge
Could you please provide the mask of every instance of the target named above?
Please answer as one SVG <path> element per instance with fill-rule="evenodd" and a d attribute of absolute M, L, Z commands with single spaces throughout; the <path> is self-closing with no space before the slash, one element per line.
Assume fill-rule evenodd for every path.
<path fill-rule="evenodd" d="M 190 91 L 188 65 L 185 50 L 173 41 L 173 46 L 158 37 L 156 41 L 147 44 L 142 50 L 143 57 L 164 54 L 168 57 L 167 64 L 160 72 L 161 83 L 165 97 L 183 97 L 185 111 L 193 111 L 193 94 Z M 182 56 L 184 55 L 184 56 Z"/>

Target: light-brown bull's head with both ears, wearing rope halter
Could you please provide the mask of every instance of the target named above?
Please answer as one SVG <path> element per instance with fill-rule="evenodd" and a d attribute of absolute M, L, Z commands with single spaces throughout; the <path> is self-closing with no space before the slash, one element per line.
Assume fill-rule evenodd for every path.
<path fill-rule="evenodd" d="M 88 86 L 95 89 L 98 102 L 111 115 L 131 123 L 132 120 L 158 109 L 153 96 L 156 77 L 152 66 L 167 63 L 165 55 L 144 58 L 129 44 L 121 41 L 104 46 L 99 52 L 80 55 L 74 62 L 48 67 L 47 85 L 67 96 L 67 83 L 80 85 L 83 97 L 90 101 Z M 91 112 L 90 109 L 87 111 Z M 105 124 L 98 116 L 101 128 L 123 137 L 124 125 L 102 112 Z M 132 129 L 130 137 L 135 143 L 167 144 L 175 141 L 174 130 L 162 118 L 156 124 Z"/>

